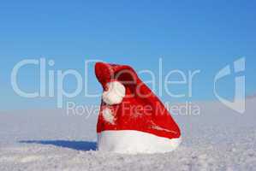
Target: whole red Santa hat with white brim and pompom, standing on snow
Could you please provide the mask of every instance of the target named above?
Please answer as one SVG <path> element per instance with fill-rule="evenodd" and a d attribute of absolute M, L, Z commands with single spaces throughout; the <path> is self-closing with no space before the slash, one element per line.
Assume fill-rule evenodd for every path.
<path fill-rule="evenodd" d="M 158 153 L 179 146 L 179 127 L 133 68 L 97 62 L 95 74 L 104 89 L 97 124 L 98 150 Z"/>

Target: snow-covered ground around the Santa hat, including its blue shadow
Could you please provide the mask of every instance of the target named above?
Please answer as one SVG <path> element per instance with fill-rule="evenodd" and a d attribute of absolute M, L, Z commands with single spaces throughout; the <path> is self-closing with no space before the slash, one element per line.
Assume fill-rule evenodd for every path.
<path fill-rule="evenodd" d="M 243 115 L 199 103 L 200 115 L 175 115 L 183 142 L 167 154 L 126 156 L 96 151 L 97 117 L 61 110 L 0 113 L 0 171 L 256 170 L 256 99 Z"/>

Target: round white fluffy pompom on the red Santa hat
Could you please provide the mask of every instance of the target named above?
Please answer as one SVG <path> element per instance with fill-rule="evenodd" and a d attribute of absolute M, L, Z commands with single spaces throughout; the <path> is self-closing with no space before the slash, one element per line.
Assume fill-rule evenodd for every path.
<path fill-rule="evenodd" d="M 113 81 L 107 84 L 108 91 L 104 91 L 102 98 L 104 103 L 109 105 L 122 103 L 122 98 L 125 96 L 125 87 L 118 81 Z"/>

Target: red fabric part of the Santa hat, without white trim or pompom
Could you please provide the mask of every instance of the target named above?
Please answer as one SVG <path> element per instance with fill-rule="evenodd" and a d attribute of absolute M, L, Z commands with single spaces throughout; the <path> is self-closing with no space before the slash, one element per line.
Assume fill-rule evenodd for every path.
<path fill-rule="evenodd" d="M 106 91 L 110 81 L 120 81 L 126 88 L 122 103 L 107 105 L 103 101 L 98 115 L 97 133 L 107 130 L 134 130 L 152 133 L 159 137 L 176 139 L 181 131 L 158 97 L 140 80 L 129 66 L 97 62 L 95 74 Z M 142 95 L 142 96 L 141 96 Z M 103 109 L 109 108 L 115 124 L 104 121 Z"/>

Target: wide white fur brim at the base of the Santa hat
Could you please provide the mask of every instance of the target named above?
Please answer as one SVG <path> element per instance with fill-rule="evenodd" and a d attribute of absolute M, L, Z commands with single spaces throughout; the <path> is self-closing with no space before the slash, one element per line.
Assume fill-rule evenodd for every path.
<path fill-rule="evenodd" d="M 152 154 L 176 150 L 182 138 L 167 139 L 140 131 L 104 131 L 98 133 L 98 150 L 122 154 Z"/>

